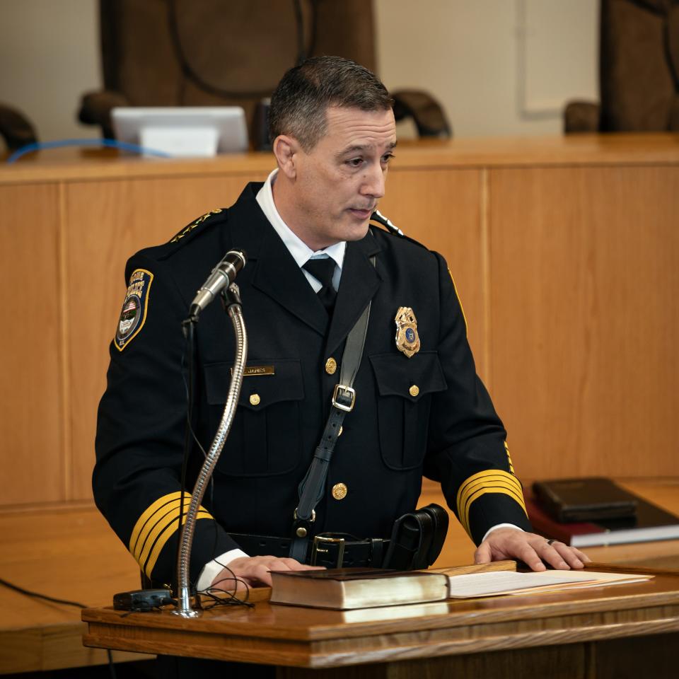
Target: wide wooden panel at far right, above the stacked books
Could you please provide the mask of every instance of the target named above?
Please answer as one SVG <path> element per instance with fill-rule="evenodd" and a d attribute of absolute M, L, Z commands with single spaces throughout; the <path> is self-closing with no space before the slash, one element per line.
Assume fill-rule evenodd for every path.
<path fill-rule="evenodd" d="M 492 170 L 494 398 L 519 475 L 677 475 L 679 168 Z"/>

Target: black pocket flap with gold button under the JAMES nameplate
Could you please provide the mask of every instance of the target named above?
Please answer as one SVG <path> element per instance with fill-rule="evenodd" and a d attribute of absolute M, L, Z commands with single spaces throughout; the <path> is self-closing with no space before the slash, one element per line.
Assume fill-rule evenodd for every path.
<path fill-rule="evenodd" d="M 273 374 L 243 377 L 238 405 L 248 410 L 262 410 L 282 401 L 304 398 L 302 369 L 299 359 L 254 359 L 248 368 L 273 366 Z M 205 391 L 209 405 L 224 405 L 231 385 L 233 363 L 213 363 L 204 366 Z"/>

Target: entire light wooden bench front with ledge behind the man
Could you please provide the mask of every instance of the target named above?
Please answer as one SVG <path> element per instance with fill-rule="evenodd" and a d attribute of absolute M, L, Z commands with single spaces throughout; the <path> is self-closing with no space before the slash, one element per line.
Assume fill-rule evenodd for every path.
<path fill-rule="evenodd" d="M 125 260 L 274 165 L 60 153 L 0 167 L 5 509 L 90 499 Z M 381 209 L 448 260 L 519 475 L 679 475 L 679 136 L 404 144 Z"/>

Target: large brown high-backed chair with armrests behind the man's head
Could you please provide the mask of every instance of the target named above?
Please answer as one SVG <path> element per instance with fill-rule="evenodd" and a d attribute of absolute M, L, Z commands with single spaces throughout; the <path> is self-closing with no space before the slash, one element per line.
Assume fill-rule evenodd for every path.
<path fill-rule="evenodd" d="M 299 59 L 336 54 L 375 70 L 371 0 L 99 0 L 103 91 L 79 120 L 112 137 L 114 106 L 243 106 L 253 146 L 266 141 L 257 104 Z M 449 136 L 425 93 L 396 93 L 419 134 Z"/>

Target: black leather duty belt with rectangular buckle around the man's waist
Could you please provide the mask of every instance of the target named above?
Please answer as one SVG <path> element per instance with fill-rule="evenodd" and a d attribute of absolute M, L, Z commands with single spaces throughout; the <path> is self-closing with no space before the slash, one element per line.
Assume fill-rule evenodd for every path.
<path fill-rule="evenodd" d="M 240 549 L 250 556 L 287 557 L 290 553 L 289 538 L 239 535 L 238 533 L 230 533 L 230 535 L 238 542 Z M 305 563 L 326 568 L 381 568 L 388 546 L 389 540 L 382 538 L 356 540 L 353 535 L 342 535 L 342 533 L 315 535 L 309 542 Z"/>

